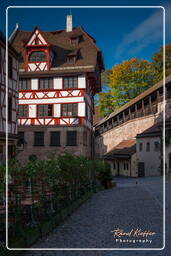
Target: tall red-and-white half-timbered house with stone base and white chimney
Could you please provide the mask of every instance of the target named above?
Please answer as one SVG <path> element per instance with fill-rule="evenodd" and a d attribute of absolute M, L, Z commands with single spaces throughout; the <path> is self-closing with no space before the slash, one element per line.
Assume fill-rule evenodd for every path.
<path fill-rule="evenodd" d="M 69 15 L 64 30 L 17 28 L 10 41 L 22 55 L 18 125 L 24 150 L 18 158 L 36 154 L 43 159 L 52 151 L 91 157 L 93 96 L 101 90 L 104 70 L 96 40 L 82 27 L 74 28 Z"/>

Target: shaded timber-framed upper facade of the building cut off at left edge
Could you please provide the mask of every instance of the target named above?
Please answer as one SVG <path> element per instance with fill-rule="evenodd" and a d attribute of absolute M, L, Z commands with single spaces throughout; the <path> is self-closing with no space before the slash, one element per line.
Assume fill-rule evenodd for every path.
<path fill-rule="evenodd" d="M 8 52 L 12 58 L 12 77 L 8 79 L 8 98 L 11 102 L 11 118 L 8 121 L 8 133 L 17 135 L 17 106 L 18 99 L 18 60 L 11 50 Z M 5 42 L 0 40 L 0 133 L 6 133 L 6 50 Z"/>

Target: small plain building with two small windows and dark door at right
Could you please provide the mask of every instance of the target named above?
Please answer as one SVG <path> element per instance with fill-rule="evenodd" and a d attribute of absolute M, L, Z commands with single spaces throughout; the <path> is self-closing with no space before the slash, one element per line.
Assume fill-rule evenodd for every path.
<path fill-rule="evenodd" d="M 166 139 L 166 174 L 171 171 L 171 120 L 166 120 L 165 131 L 169 136 Z M 137 134 L 137 163 L 138 169 L 145 176 L 163 174 L 163 124 L 154 124 L 141 134 Z"/>

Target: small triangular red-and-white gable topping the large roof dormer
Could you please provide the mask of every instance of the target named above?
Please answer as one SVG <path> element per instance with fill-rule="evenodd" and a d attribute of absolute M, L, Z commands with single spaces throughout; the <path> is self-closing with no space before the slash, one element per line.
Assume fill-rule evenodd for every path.
<path fill-rule="evenodd" d="M 42 35 L 42 33 L 38 28 L 34 30 L 33 34 L 28 40 L 28 43 L 26 44 L 26 46 L 36 46 L 36 45 L 40 45 L 40 46 L 48 45 L 46 39 L 44 38 L 44 36 Z"/>

